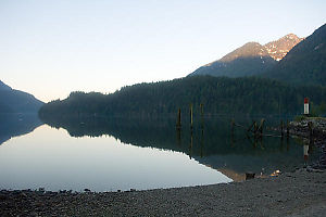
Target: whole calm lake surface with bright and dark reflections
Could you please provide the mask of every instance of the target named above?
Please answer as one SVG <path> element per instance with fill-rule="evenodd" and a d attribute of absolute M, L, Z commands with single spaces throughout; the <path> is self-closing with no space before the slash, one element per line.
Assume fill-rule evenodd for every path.
<path fill-rule="evenodd" d="M 249 126 L 260 117 L 240 117 Z M 116 191 L 241 181 L 313 161 L 300 140 L 230 131 L 230 117 L 195 118 L 193 130 L 175 118 L 53 118 L 0 116 L 0 189 Z M 279 124 L 267 118 L 266 126 Z M 269 132 L 268 132 L 269 133 Z M 271 132 L 272 133 L 272 132 Z M 276 133 L 276 132 L 273 132 Z"/>

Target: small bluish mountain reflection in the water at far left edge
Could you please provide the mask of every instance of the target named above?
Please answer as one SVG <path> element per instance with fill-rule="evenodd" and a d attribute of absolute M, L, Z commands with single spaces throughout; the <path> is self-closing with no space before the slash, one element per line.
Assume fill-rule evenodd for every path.
<path fill-rule="evenodd" d="M 0 114 L 0 144 L 42 125 L 37 114 Z"/>

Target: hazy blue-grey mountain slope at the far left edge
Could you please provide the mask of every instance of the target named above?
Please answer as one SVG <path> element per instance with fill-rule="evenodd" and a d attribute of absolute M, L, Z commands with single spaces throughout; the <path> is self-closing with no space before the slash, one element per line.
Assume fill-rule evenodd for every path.
<path fill-rule="evenodd" d="M 0 113 L 37 113 L 43 102 L 0 80 Z"/>

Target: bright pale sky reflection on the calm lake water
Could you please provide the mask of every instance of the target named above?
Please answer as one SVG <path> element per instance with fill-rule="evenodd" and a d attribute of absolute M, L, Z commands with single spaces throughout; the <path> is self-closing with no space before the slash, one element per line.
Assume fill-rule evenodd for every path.
<path fill-rule="evenodd" d="M 0 170 L 0 189 L 116 191 L 230 181 L 180 152 L 113 137 L 74 138 L 47 125 L 1 145 Z"/>

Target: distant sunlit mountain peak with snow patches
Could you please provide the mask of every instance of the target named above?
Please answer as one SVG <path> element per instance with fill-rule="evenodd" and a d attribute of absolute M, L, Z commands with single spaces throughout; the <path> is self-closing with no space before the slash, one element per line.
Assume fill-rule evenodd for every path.
<path fill-rule="evenodd" d="M 277 61 L 281 60 L 301 40 L 298 36 L 289 34 L 265 46 L 248 42 L 218 61 L 201 66 L 190 76 L 243 77 L 260 75 L 276 65 Z"/>

